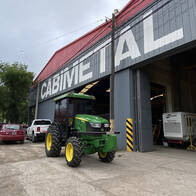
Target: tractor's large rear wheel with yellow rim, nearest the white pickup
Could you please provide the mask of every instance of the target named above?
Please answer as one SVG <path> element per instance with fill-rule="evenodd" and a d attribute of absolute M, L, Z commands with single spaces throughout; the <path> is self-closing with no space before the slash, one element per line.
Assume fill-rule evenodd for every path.
<path fill-rule="evenodd" d="M 51 146 L 48 146 L 47 138 L 51 136 Z M 45 135 L 45 152 L 48 157 L 58 157 L 61 153 L 61 129 L 60 123 L 53 122 Z"/>

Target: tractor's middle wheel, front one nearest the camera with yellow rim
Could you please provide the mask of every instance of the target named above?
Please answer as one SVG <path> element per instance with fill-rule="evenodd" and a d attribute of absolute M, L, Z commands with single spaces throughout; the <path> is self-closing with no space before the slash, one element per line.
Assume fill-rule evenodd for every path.
<path fill-rule="evenodd" d="M 72 146 L 72 155 L 69 155 L 69 146 Z M 81 163 L 82 143 L 77 137 L 70 137 L 65 145 L 65 160 L 70 167 L 78 167 Z"/>

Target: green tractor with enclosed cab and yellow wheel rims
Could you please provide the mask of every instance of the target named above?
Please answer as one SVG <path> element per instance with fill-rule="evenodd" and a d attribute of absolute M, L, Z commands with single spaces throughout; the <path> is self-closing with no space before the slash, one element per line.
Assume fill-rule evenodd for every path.
<path fill-rule="evenodd" d="M 54 122 L 45 137 L 48 157 L 57 157 L 65 146 L 65 159 L 70 167 L 80 165 L 84 154 L 98 152 L 102 162 L 115 157 L 117 132 L 110 133 L 108 120 L 93 115 L 94 96 L 67 93 L 54 99 Z"/>

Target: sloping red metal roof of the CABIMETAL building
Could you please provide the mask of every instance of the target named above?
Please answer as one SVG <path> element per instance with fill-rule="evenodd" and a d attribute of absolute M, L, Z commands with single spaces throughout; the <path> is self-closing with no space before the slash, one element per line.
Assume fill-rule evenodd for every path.
<path fill-rule="evenodd" d="M 139 11 L 141 11 L 148 4 L 154 0 L 132 0 L 130 1 L 117 15 L 116 21 L 117 26 L 131 18 Z M 79 39 L 73 41 L 67 46 L 56 51 L 51 57 L 48 63 L 45 65 L 43 70 L 39 73 L 35 81 L 43 81 L 55 71 L 59 70 L 65 63 L 79 55 L 85 49 L 96 43 L 99 39 L 103 38 L 111 31 L 111 21 L 103 23 L 94 30 L 88 32 Z"/>

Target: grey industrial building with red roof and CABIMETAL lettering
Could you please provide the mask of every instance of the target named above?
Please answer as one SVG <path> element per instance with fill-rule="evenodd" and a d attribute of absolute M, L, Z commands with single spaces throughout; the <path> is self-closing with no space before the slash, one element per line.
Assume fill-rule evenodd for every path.
<path fill-rule="evenodd" d="M 162 138 L 163 113 L 196 113 L 195 21 L 195 0 L 132 0 L 116 15 L 114 110 L 119 149 L 126 149 L 127 118 L 133 119 L 134 150 L 145 152 Z M 70 91 L 94 95 L 96 113 L 108 118 L 110 72 L 107 21 L 52 56 L 31 89 L 29 121 L 37 95 L 38 118 L 53 120 L 53 99 Z"/>

